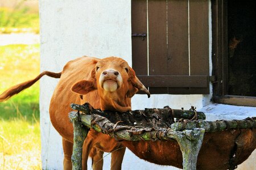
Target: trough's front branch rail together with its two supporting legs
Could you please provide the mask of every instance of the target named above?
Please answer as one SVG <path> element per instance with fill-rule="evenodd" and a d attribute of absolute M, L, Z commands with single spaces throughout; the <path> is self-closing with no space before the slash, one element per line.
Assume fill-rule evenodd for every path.
<path fill-rule="evenodd" d="M 71 121 L 77 121 L 77 112 L 70 112 L 69 118 Z M 88 126 L 88 128 L 93 128 L 94 130 L 108 134 L 110 137 L 113 137 L 117 140 L 127 140 L 127 141 L 155 141 L 155 140 L 170 140 L 175 139 L 179 145 L 180 150 L 183 155 L 183 167 L 185 170 L 196 170 L 196 161 L 201 148 L 203 138 L 204 138 L 204 129 L 195 128 L 192 130 L 183 130 L 183 131 L 174 131 L 170 128 L 168 129 L 155 129 L 155 128 L 143 128 L 142 126 L 119 126 L 113 124 L 108 120 L 108 118 L 102 117 L 100 115 L 89 115 L 89 114 L 80 114 L 80 121 L 83 125 Z M 74 134 L 79 134 L 75 126 L 81 126 L 79 124 L 74 125 Z M 79 138 L 79 136 L 74 136 Z M 84 140 L 84 138 L 81 138 Z M 82 143 L 83 141 L 79 141 Z M 77 148 L 79 147 L 79 148 Z M 82 151 L 81 145 L 75 145 L 73 152 L 76 155 L 72 156 L 72 163 L 79 167 L 82 160 L 81 155 L 77 154 L 77 151 Z M 74 168 L 77 169 L 77 168 Z"/>

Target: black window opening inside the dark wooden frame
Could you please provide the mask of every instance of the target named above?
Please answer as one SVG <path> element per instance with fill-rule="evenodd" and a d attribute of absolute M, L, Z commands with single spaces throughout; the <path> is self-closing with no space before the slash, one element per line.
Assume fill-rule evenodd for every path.
<path fill-rule="evenodd" d="M 228 94 L 256 96 L 256 1 L 228 1 Z"/>

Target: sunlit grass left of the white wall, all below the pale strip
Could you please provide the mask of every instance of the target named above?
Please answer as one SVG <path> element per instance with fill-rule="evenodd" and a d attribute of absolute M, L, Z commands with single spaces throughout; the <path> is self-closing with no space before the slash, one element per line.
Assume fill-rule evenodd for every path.
<path fill-rule="evenodd" d="M 0 46 L 0 94 L 39 74 L 39 48 Z M 0 103 L 0 169 L 42 169 L 39 83 Z"/>

